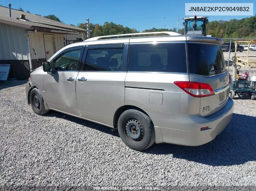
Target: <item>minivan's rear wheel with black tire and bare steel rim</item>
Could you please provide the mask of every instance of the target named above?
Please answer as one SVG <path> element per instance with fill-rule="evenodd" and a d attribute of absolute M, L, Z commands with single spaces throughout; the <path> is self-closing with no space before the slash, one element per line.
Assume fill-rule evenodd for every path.
<path fill-rule="evenodd" d="M 118 133 L 129 148 L 142 151 L 155 142 L 155 129 L 152 120 L 141 111 L 130 109 L 118 119 Z"/>

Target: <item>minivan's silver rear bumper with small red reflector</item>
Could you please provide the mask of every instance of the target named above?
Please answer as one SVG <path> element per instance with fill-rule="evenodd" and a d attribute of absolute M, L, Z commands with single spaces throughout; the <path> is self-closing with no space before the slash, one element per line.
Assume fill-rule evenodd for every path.
<path fill-rule="evenodd" d="M 156 143 L 198 146 L 213 140 L 231 121 L 234 102 L 228 97 L 228 103 L 211 116 L 183 115 L 147 111 L 155 124 Z M 159 114 L 156 114 L 159 113 Z M 208 129 L 201 130 L 201 127 Z"/>

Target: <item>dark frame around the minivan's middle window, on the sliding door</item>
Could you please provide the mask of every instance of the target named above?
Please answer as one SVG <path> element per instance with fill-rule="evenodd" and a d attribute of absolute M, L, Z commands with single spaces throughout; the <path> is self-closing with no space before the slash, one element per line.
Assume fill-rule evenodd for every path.
<path fill-rule="evenodd" d="M 127 63 L 128 63 L 128 43 L 112 43 L 112 44 L 97 44 L 97 45 L 86 45 L 83 58 L 81 61 L 81 67 L 80 70 L 84 72 L 127 72 Z M 121 62 L 120 71 L 88 71 L 85 70 L 85 60 L 88 56 L 88 50 L 89 49 L 123 49 L 123 58 Z"/>

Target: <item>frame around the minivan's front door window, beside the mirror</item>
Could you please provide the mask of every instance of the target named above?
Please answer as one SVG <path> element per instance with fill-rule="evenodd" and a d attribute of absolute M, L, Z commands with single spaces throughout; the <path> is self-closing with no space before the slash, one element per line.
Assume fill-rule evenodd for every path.
<path fill-rule="evenodd" d="M 81 53 L 80 53 L 80 57 L 78 59 L 78 66 L 77 66 L 78 70 L 53 70 L 52 69 L 53 62 L 55 62 L 57 59 L 59 59 L 62 55 L 64 55 L 67 52 L 70 52 L 72 50 L 80 50 L 80 49 L 81 49 Z M 71 48 L 67 48 L 67 49 L 63 50 L 62 52 L 58 53 L 50 62 L 50 68 L 51 68 L 50 71 L 51 72 L 78 72 L 81 67 L 81 60 L 82 60 L 84 50 L 85 50 L 85 46 L 73 46 Z"/>

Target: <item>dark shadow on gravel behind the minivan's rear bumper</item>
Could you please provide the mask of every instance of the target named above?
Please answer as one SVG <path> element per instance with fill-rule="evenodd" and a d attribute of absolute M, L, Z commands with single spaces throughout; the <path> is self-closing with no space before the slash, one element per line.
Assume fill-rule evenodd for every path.
<path fill-rule="evenodd" d="M 233 114 L 233 119 L 217 137 L 201 146 L 154 144 L 145 150 L 150 154 L 173 154 L 181 158 L 211 166 L 230 166 L 256 161 L 256 117 Z"/>

